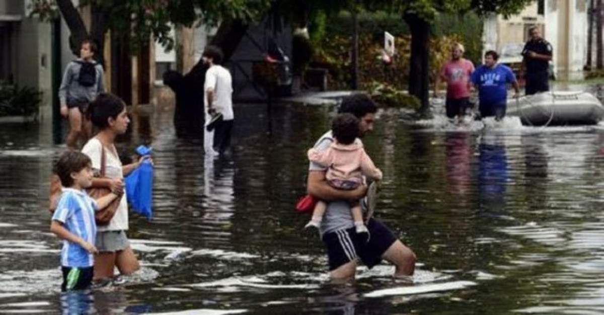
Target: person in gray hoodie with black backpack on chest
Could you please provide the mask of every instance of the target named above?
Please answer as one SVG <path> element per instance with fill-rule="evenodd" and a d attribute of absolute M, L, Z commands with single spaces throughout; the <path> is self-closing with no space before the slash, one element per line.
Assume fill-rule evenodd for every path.
<path fill-rule="evenodd" d="M 92 40 L 82 41 L 80 58 L 70 62 L 65 68 L 59 88 L 61 115 L 69 119 L 69 133 L 65 144 L 77 148 L 78 139 L 85 143 L 92 133 L 92 125 L 86 117 L 88 104 L 104 92 L 103 66 L 95 62 L 98 46 Z"/>

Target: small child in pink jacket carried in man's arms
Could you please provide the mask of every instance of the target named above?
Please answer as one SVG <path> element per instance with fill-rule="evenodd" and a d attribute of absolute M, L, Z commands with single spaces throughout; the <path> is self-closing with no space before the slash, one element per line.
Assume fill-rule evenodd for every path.
<path fill-rule="evenodd" d="M 332 123 L 334 142 L 324 151 L 314 148 L 308 150 L 310 162 L 327 168 L 327 182 L 337 189 L 355 189 L 364 182 L 363 176 L 374 180 L 382 179 L 382 171 L 376 168 L 371 158 L 365 153 L 358 137 L 359 119 L 350 113 L 336 116 Z M 327 203 L 319 201 L 312 212 L 312 219 L 304 228 L 319 228 Z M 351 202 L 350 211 L 355 220 L 357 233 L 368 233 L 363 223 L 359 202 Z"/>

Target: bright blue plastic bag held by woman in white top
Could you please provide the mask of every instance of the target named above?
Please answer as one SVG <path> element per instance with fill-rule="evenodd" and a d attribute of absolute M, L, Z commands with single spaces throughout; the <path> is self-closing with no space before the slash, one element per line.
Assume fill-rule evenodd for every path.
<path fill-rule="evenodd" d="M 140 156 L 149 156 L 151 148 L 141 145 L 137 148 Z M 133 170 L 126 179 L 126 197 L 132 209 L 148 220 L 153 216 L 153 164 L 149 159 L 144 159 L 141 165 Z"/>

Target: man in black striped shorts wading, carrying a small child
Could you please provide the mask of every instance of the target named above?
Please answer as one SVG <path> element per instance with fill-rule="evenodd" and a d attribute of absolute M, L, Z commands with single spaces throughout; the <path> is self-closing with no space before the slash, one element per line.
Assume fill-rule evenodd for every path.
<path fill-rule="evenodd" d="M 373 130 L 377 107 L 364 94 L 344 98 L 339 113 L 352 113 L 359 119 L 359 138 Z M 325 133 L 314 148 L 326 150 L 333 142 L 332 132 Z M 350 212 L 350 202 L 362 199 L 367 186 L 359 185 L 352 190 L 333 188 L 326 180 L 326 167 L 311 163 L 308 176 L 308 193 L 329 202 L 321 221 L 320 232 L 327 250 L 329 270 L 332 279 L 354 278 L 358 259 L 371 268 L 386 259 L 396 266 L 395 276 L 413 275 L 416 256 L 411 249 L 397 240 L 394 234 L 381 222 L 370 218 L 365 233 L 356 233 Z"/>

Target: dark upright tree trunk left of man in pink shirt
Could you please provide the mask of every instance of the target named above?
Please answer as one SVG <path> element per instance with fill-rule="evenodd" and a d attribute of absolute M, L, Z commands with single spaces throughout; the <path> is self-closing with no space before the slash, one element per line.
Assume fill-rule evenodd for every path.
<path fill-rule="evenodd" d="M 422 117 L 431 116 L 428 102 L 430 24 L 415 14 L 403 17 L 411 30 L 411 67 L 409 70 L 409 94 L 419 98 Z"/>

